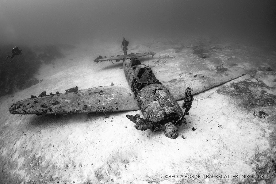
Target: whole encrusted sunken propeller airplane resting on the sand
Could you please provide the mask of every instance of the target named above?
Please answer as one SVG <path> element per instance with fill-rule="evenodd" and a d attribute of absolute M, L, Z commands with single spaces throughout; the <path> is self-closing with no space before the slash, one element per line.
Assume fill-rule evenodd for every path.
<path fill-rule="evenodd" d="M 176 138 L 178 136 L 178 129 L 176 125 L 186 123 L 184 116 L 188 115 L 188 111 L 194 100 L 193 95 L 211 89 L 215 86 L 236 79 L 245 74 L 244 69 L 230 68 L 228 71 L 224 70 L 222 74 L 217 74 L 216 83 L 207 77 L 204 83 L 207 84 L 202 87 L 197 87 L 194 93 L 189 87 L 184 86 L 163 86 L 158 79 L 156 79 L 151 68 L 141 64 L 139 58 L 143 56 L 154 56 L 154 52 L 147 53 L 131 53 L 127 54 L 127 46 L 129 42 L 122 41 L 124 55 L 116 57 L 102 57 L 98 56 L 94 62 L 102 61 L 120 61 L 123 60 L 123 68 L 125 77 L 128 81 L 133 94 L 128 94 L 125 88 L 117 86 L 103 86 L 97 88 L 90 88 L 85 90 L 78 90 L 78 87 L 70 88 L 65 93 L 56 92 L 46 95 L 42 92 L 38 97 L 31 96 L 31 98 L 21 100 L 13 104 L 9 111 L 12 114 L 73 114 L 73 113 L 109 113 L 141 110 L 144 118 L 140 115 L 127 115 L 127 118 L 135 123 L 137 130 L 151 129 L 153 131 L 164 131 L 169 138 Z M 230 77 L 228 73 L 231 73 Z M 220 77 L 219 75 L 224 75 Z M 211 78 L 210 78 L 211 79 Z M 177 100 L 184 99 L 182 109 L 177 103 Z"/>

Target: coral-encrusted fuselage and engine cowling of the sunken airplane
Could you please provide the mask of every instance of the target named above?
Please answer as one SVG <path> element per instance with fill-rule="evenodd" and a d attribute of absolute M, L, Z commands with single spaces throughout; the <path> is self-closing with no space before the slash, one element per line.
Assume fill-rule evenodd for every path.
<path fill-rule="evenodd" d="M 149 67 L 134 59 L 123 65 L 128 85 L 146 119 L 164 125 L 182 117 L 182 109 Z"/>

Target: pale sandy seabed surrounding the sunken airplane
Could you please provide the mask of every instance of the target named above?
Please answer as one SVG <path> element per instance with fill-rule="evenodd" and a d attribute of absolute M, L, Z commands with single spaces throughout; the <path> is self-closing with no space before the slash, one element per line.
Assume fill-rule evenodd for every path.
<path fill-rule="evenodd" d="M 65 92 L 75 86 L 87 89 L 113 82 L 114 86 L 126 87 L 131 92 L 122 61 L 93 62 L 98 55 L 122 54 L 121 40 L 79 43 L 75 50 L 64 51 L 65 58 L 43 65 L 36 75 L 38 80 L 43 79 L 38 84 L 0 98 L 0 183 L 273 182 L 276 174 L 275 51 L 247 42 L 203 37 L 126 39 L 130 41 L 128 52 L 156 52 L 154 58 L 141 59 L 149 66 L 154 65 L 159 55 L 182 57 L 185 62 L 185 58 L 198 57 L 192 46 L 207 50 L 215 46 L 228 50 L 213 59 L 222 62 L 234 59 L 236 66 L 245 68 L 248 74 L 198 94 L 198 101 L 194 101 L 190 116 L 186 117 L 187 124 L 178 127 L 177 139 L 169 139 L 163 132 L 136 130 L 126 115 L 141 114 L 140 111 L 65 116 L 10 114 L 8 109 L 14 102 L 42 91 Z M 269 67 L 271 70 L 267 70 Z M 234 84 L 242 81 L 262 84 L 248 89 L 252 94 L 260 94 L 255 100 L 269 98 L 271 104 L 245 106 L 242 100 L 252 100 L 248 91 L 236 91 L 236 96 L 231 96 L 230 92 L 236 89 Z M 226 89 L 229 94 L 221 92 Z M 258 90 L 264 90 L 265 94 Z M 183 102 L 178 103 L 182 106 Z M 254 117 L 254 111 L 260 110 L 268 116 Z M 232 174 L 238 178 L 206 178 L 210 174 Z M 241 178 L 243 174 L 270 178 Z M 203 178 L 185 178 L 185 175 Z"/>

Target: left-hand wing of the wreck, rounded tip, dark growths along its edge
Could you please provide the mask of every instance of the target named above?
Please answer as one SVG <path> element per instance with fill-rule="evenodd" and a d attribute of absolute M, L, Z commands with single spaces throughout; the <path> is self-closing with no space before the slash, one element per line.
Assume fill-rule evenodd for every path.
<path fill-rule="evenodd" d="M 28 98 L 13 104 L 12 114 L 73 114 L 108 113 L 139 110 L 136 100 L 127 89 L 104 86 L 71 93 Z"/>

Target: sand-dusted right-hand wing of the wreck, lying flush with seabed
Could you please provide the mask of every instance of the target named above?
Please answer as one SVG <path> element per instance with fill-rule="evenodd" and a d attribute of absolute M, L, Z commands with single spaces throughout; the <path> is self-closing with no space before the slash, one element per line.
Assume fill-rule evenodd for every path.
<path fill-rule="evenodd" d="M 154 71 L 154 69 L 152 70 Z M 186 74 L 186 77 L 185 74 L 179 76 L 178 74 L 181 73 L 179 71 L 171 71 L 169 73 L 170 75 L 167 76 L 162 75 L 162 73 L 156 73 L 155 76 L 170 90 L 176 100 L 184 99 L 186 87 L 190 86 L 193 89 L 192 95 L 195 95 L 247 74 L 245 69 L 241 67 L 215 70 L 203 68 L 200 71 L 194 69 L 190 74 Z"/>

